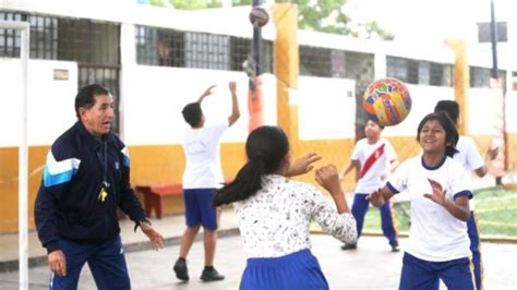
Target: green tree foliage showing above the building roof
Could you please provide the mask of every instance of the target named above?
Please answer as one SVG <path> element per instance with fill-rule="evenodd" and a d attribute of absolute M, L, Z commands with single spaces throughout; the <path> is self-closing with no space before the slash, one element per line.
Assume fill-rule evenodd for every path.
<path fill-rule="evenodd" d="M 221 0 L 149 0 L 151 4 L 164 5 L 165 1 L 176 9 L 196 10 L 220 8 Z M 252 0 L 232 0 L 232 5 L 250 5 Z M 298 26 L 316 32 L 371 37 L 386 32 L 376 22 L 353 23 L 344 11 L 347 0 L 276 0 L 276 3 L 298 4 Z"/>

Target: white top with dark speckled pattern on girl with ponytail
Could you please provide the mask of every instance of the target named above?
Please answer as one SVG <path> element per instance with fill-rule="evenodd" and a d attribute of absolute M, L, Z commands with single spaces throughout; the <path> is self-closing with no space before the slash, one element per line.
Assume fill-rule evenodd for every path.
<path fill-rule="evenodd" d="M 312 219 L 341 242 L 357 241 L 353 216 L 338 214 L 309 183 L 265 176 L 262 190 L 233 206 L 248 257 L 278 257 L 311 249 Z"/>

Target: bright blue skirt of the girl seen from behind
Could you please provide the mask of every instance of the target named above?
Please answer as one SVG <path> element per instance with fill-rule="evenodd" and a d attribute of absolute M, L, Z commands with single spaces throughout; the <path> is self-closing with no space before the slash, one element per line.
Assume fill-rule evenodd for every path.
<path fill-rule="evenodd" d="M 242 274 L 241 290 L 328 289 L 322 268 L 310 250 L 281 257 L 249 258 Z"/>

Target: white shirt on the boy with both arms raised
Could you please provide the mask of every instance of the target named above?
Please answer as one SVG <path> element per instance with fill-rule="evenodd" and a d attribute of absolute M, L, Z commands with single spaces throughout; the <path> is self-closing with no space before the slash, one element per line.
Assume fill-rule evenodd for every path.
<path fill-rule="evenodd" d="M 219 141 L 228 122 L 188 128 L 183 137 L 185 169 L 183 189 L 219 189 L 224 178 L 220 167 Z"/>

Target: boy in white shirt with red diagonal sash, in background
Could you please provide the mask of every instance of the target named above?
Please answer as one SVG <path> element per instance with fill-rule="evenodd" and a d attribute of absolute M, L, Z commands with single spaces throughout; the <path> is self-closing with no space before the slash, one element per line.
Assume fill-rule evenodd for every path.
<path fill-rule="evenodd" d="M 369 120 L 364 126 L 365 138 L 357 142 L 353 148 L 350 164 L 341 173 L 340 179 L 354 168 L 360 168 L 359 180 L 356 186 L 356 194 L 352 203 L 352 215 L 357 221 L 358 237 L 361 237 L 364 216 L 366 215 L 370 202 L 366 196 L 382 188 L 386 182 L 386 177 L 398 165 L 397 155 L 389 141 L 382 138 L 383 128 Z M 393 213 L 389 203 L 384 204 L 381 208 L 381 225 L 384 237 L 389 241 L 392 252 L 398 252 L 398 234 L 394 227 Z M 357 243 L 344 244 L 342 250 L 354 250 Z"/>

